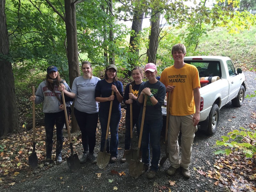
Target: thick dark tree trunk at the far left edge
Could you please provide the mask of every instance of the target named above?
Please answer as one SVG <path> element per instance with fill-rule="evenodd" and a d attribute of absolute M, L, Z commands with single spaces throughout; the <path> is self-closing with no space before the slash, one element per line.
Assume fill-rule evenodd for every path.
<path fill-rule="evenodd" d="M 9 54 L 8 32 L 6 16 L 4 12 L 5 0 L 0 0 L 0 54 L 6 57 Z M 2 56 L 1 56 L 2 57 Z M 3 59 L 0 60 L 0 137 L 8 133 L 18 131 L 18 108 L 16 105 L 14 77 L 12 64 Z"/>

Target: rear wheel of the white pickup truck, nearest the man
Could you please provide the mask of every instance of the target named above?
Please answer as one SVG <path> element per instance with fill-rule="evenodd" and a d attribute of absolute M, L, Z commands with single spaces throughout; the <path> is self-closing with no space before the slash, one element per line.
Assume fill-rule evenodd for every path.
<path fill-rule="evenodd" d="M 214 103 L 209 113 L 209 121 L 208 121 L 208 129 L 207 129 L 208 135 L 213 135 L 216 132 L 219 124 L 219 119 L 220 119 L 220 109 L 219 109 L 219 106 Z"/>

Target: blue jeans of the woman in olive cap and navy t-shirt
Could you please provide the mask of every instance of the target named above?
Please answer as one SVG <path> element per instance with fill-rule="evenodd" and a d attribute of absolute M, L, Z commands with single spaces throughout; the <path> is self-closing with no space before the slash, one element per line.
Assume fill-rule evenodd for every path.
<path fill-rule="evenodd" d="M 100 113 L 99 112 L 99 119 L 100 119 L 100 127 L 101 127 L 101 140 L 100 140 L 100 151 L 103 152 L 104 144 L 106 140 L 106 132 L 108 126 L 108 113 Z M 111 114 L 110 118 L 110 145 L 109 140 L 107 139 L 107 153 L 110 153 L 111 156 L 117 157 L 117 147 L 118 147 L 118 126 L 121 119 L 121 111 L 115 112 Z"/>

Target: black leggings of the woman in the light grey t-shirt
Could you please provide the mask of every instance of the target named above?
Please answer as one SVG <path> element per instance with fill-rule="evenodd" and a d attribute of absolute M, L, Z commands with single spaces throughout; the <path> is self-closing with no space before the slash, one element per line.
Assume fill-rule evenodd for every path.
<path fill-rule="evenodd" d="M 93 153 L 96 144 L 96 129 L 98 124 L 97 113 L 85 113 L 74 108 L 77 124 L 82 133 L 82 143 L 84 151 Z"/>

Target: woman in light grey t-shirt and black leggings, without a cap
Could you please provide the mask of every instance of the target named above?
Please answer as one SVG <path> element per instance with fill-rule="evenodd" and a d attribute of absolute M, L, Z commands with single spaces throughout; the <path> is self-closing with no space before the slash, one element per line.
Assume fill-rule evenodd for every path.
<path fill-rule="evenodd" d="M 93 164 L 97 162 L 94 153 L 96 144 L 96 128 L 98 124 L 98 103 L 94 99 L 95 87 L 100 78 L 92 76 L 92 64 L 89 61 L 82 63 L 83 76 L 76 77 L 72 84 L 72 91 L 67 92 L 63 85 L 59 91 L 64 91 L 68 97 L 75 98 L 74 114 L 82 133 L 83 156 L 80 163 L 90 159 Z"/>

